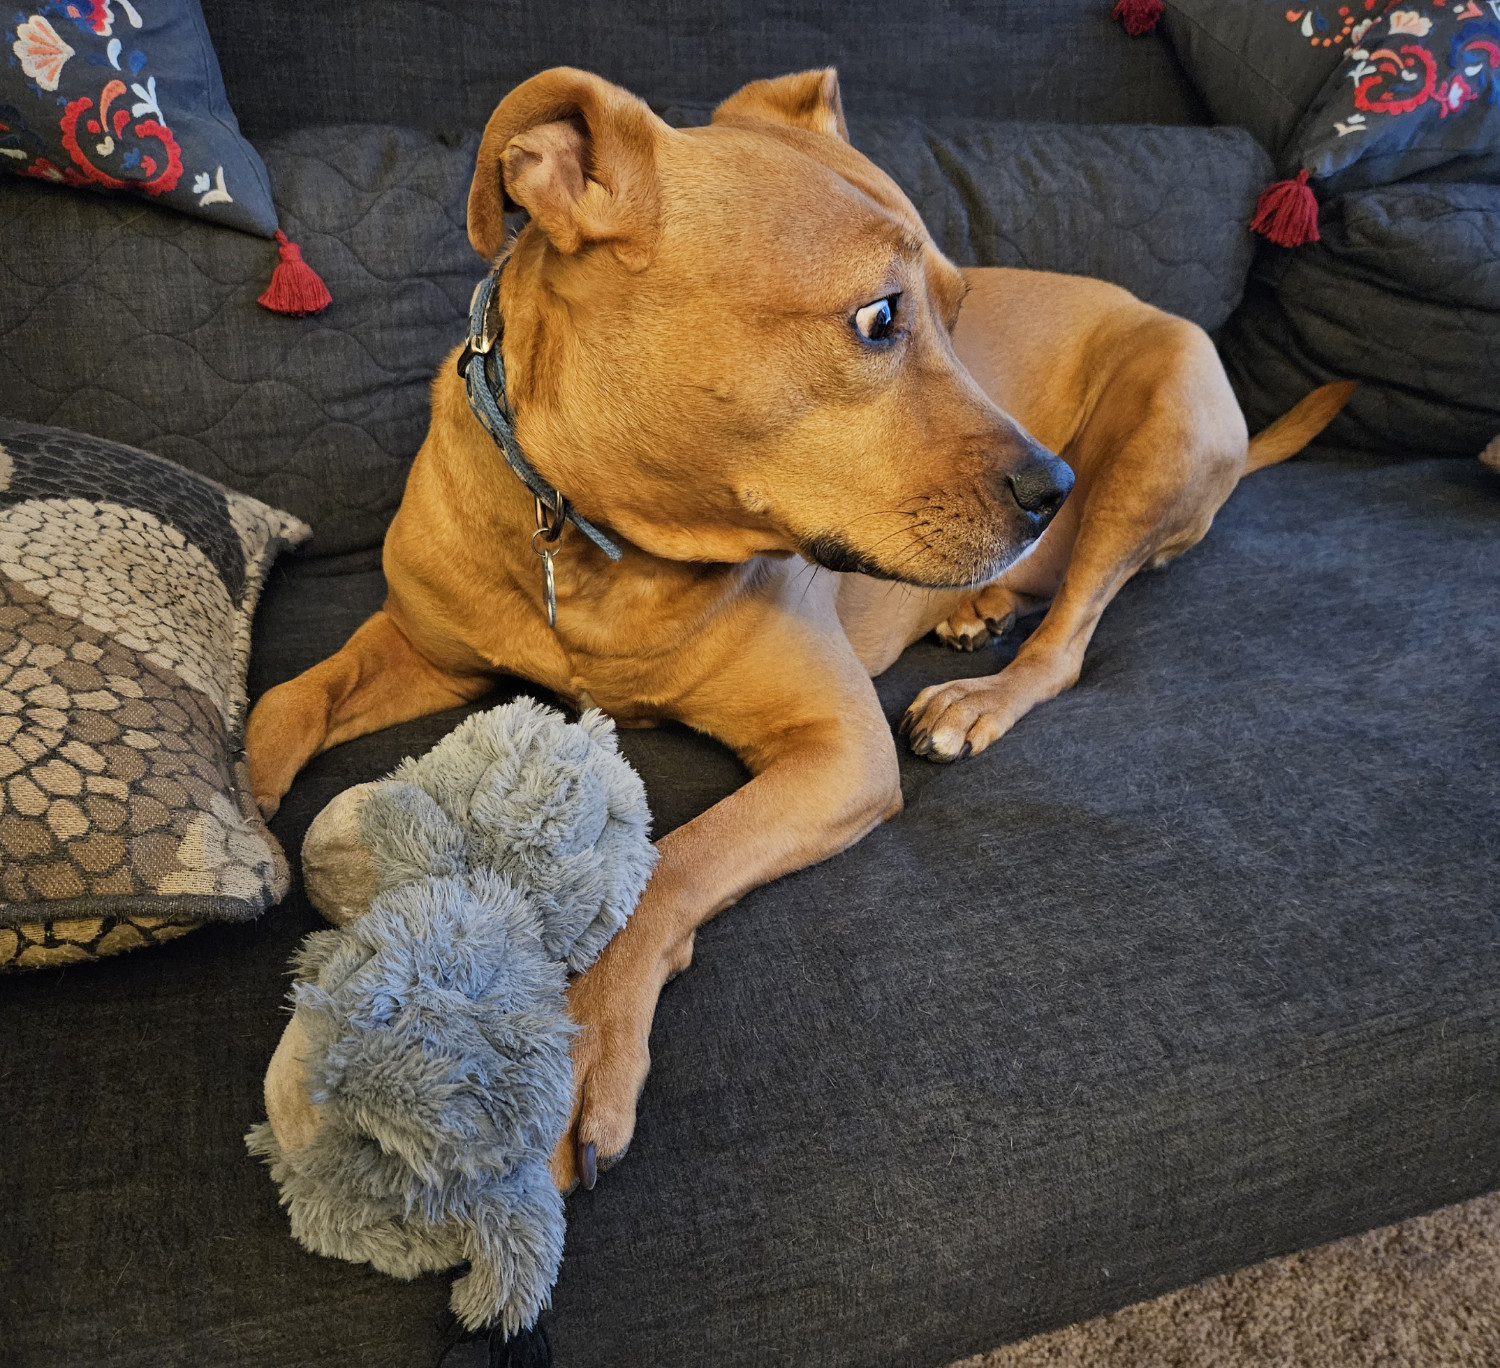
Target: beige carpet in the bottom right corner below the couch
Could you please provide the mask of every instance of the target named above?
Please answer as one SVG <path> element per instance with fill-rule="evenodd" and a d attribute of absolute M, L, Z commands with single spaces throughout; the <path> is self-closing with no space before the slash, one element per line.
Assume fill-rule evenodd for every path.
<path fill-rule="evenodd" d="M 1500 1368 L 1500 1192 L 952 1368 Z"/>

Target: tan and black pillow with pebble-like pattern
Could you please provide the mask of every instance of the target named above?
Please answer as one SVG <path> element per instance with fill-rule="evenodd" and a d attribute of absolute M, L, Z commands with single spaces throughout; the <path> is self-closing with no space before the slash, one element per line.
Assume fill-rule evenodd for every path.
<path fill-rule="evenodd" d="M 144 452 L 0 418 L 0 972 L 286 891 L 244 672 L 266 573 L 308 536 Z"/>

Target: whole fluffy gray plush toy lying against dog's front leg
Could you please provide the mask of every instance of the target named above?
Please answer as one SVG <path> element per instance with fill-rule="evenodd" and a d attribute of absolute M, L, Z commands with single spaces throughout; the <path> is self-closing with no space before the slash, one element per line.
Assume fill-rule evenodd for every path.
<path fill-rule="evenodd" d="M 246 1137 L 308 1250 L 399 1278 L 466 1262 L 465 1326 L 536 1320 L 562 1258 L 567 974 L 640 897 L 648 826 L 610 720 L 531 699 L 318 814 L 303 879 L 339 928 L 302 945 Z"/>

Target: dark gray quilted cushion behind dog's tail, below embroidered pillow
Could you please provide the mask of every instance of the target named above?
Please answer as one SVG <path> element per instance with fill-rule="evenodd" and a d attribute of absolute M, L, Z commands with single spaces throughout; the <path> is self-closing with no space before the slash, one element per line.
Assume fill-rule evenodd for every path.
<path fill-rule="evenodd" d="M 1500 186 L 1344 195 L 1322 242 L 1266 252 L 1221 351 L 1252 429 L 1359 380 L 1330 442 L 1476 454 L 1500 432 Z"/>

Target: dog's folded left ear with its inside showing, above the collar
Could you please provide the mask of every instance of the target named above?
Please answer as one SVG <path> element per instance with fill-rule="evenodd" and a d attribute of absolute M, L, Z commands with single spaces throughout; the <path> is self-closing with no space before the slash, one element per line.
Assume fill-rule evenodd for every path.
<path fill-rule="evenodd" d="M 560 252 L 608 243 L 630 270 L 657 237 L 657 136 L 666 124 L 600 76 L 558 66 L 518 86 L 484 126 L 470 186 L 474 250 L 492 260 L 506 210 L 525 208 Z"/>

